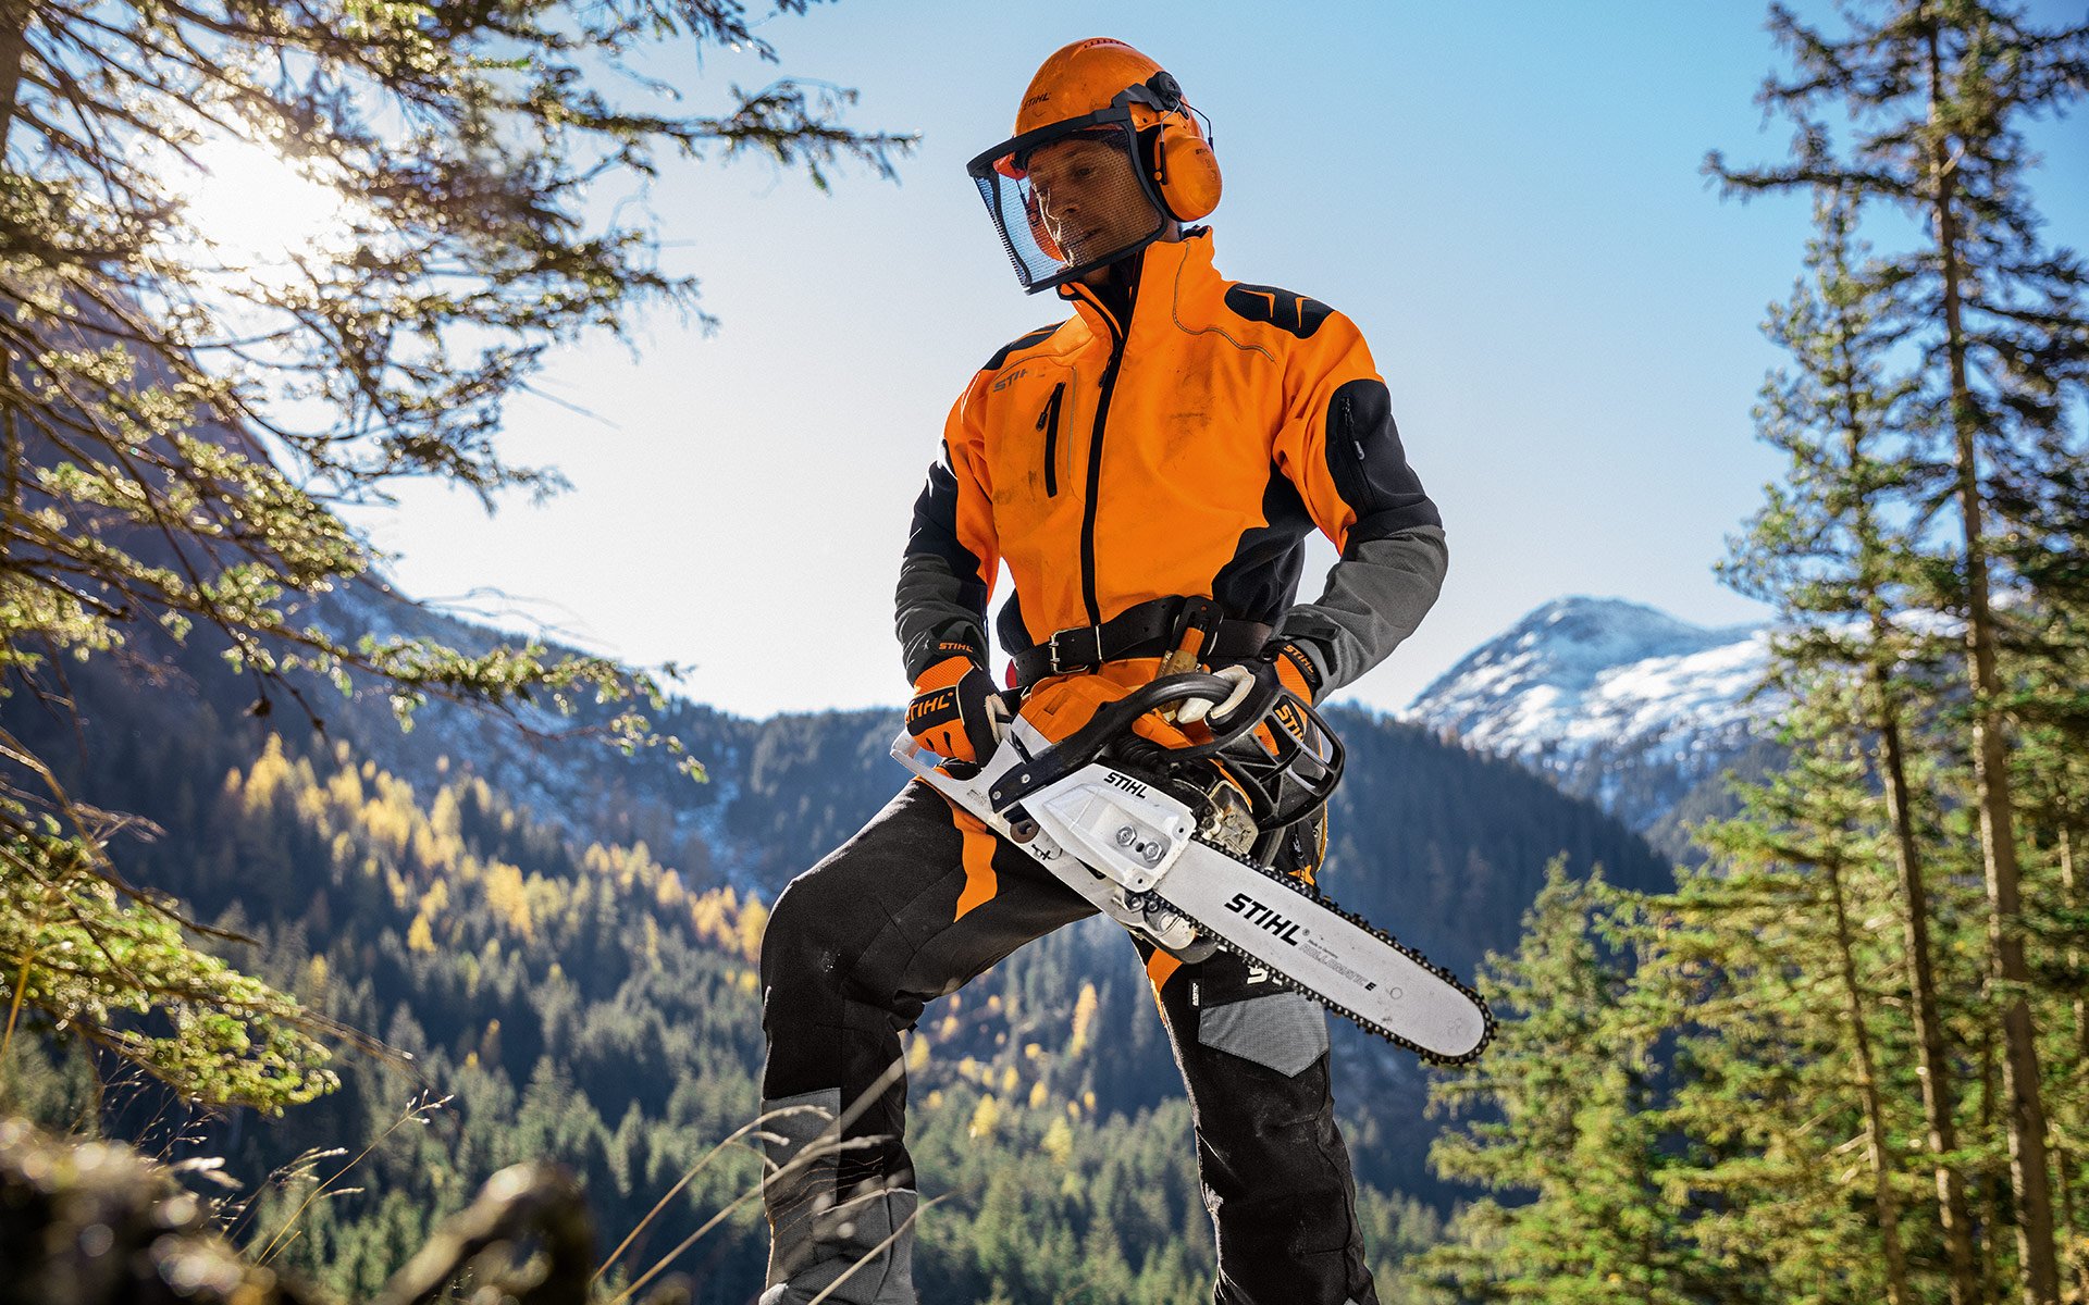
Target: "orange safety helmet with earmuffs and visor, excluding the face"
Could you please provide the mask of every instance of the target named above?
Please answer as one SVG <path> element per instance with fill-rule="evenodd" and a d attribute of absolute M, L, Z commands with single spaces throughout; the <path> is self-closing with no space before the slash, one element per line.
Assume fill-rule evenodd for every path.
<path fill-rule="evenodd" d="M 1059 248 L 1030 186 L 1030 155 L 1088 136 L 1122 140 L 1153 221 L 1107 251 Z M 1015 136 L 967 165 L 1015 274 L 1030 292 L 1074 280 L 1151 244 L 1168 219 L 1195 221 L 1218 207 L 1218 157 L 1182 86 L 1159 63 L 1120 40 L 1093 38 L 1057 50 L 1030 79 L 1015 111 Z M 1022 228 L 1011 219 L 1022 217 Z"/>

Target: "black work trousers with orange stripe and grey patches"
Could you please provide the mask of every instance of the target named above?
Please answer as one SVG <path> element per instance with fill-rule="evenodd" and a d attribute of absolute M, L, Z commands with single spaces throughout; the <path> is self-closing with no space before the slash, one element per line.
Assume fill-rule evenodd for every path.
<path fill-rule="evenodd" d="M 762 942 L 767 1102 L 848 1107 L 890 1077 L 900 1031 L 923 1006 L 1053 929 L 1095 915 L 1022 848 L 909 783 L 848 844 L 790 883 Z M 1375 1305 L 1356 1224 L 1349 1157 L 1329 1094 L 1327 1017 L 1308 998 L 1220 952 L 1199 965 L 1141 958 L 1155 981 L 1189 1088 L 1197 1163 L 1218 1238 L 1218 1305 Z M 915 1209 L 905 1146 L 907 1084 L 842 1130 L 823 1190 L 769 1194 L 771 1295 L 811 1299 L 869 1255 L 863 1228 L 886 1232 L 890 1265 L 865 1265 L 831 1299 L 913 1301 L 907 1242 Z M 850 1138 L 882 1138 L 848 1148 Z M 788 1148 L 775 1153 L 788 1159 Z M 802 1188 L 802 1184 L 800 1184 Z M 863 1219 L 815 1219 L 806 1207 L 854 1192 L 902 1192 Z M 861 1207 L 856 1207 L 861 1209 Z M 840 1232 L 836 1232 L 840 1230 Z M 852 1234 L 852 1236 L 850 1236 Z M 877 1270 L 867 1272 L 867 1270 Z"/>

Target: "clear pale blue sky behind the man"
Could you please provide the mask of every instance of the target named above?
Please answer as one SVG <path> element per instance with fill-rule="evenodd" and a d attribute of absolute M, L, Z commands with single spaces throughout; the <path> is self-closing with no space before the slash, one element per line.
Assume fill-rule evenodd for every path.
<path fill-rule="evenodd" d="M 2041 4 L 2081 21 L 2079 4 Z M 831 194 L 767 163 L 675 165 L 654 190 L 671 267 L 712 336 L 673 313 L 635 349 L 549 357 L 562 403 L 510 409 L 510 451 L 574 489 L 487 518 L 409 487 L 359 520 L 426 597 L 549 622 L 591 649 L 689 668 L 727 710 L 907 695 L 892 580 L 942 418 L 1001 342 L 1063 317 L 1019 292 L 963 163 L 1005 138 L 1057 46 L 1118 35 L 1216 123 L 1226 276 L 1352 315 L 1443 509 L 1437 610 L 1347 697 L 1404 706 L 1475 643 L 1567 593 L 1688 620 L 1755 620 L 1711 566 L 1778 470 L 1748 407 L 1776 351 L 1805 200 L 1719 200 L 1698 167 L 1782 155 L 1753 94 L 1763 8 L 1736 4 L 1057 4 L 844 0 L 762 27 L 781 71 L 861 90 L 852 121 L 919 132 L 900 184 Z M 654 63 L 714 102 L 775 69 Z M 2035 142 L 2049 240 L 2089 244 L 2089 136 Z M 1322 547 L 1308 595 L 1333 560 Z"/>

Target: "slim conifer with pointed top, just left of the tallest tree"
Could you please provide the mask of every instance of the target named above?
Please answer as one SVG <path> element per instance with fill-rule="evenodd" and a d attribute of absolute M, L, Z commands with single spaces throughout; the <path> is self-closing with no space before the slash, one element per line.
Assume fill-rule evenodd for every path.
<path fill-rule="evenodd" d="M 1778 610 L 1784 633 L 1774 679 L 1807 704 L 1811 727 L 1832 735 L 1840 720 L 1847 737 L 1870 739 L 1884 841 L 1899 881 L 1909 1017 L 1951 1301 L 1972 1305 L 1978 1299 L 1972 1226 L 1964 1176 L 1951 1159 L 1953 1067 L 1930 940 L 1930 848 L 1918 831 L 1922 812 L 1937 810 L 1941 798 L 1920 783 L 1926 758 L 1909 756 L 1909 727 L 1934 716 L 1947 679 L 1941 664 L 1949 656 L 1934 622 L 1907 620 L 1911 595 L 1926 589 L 1926 574 L 1939 566 L 1914 505 L 1937 495 L 1947 468 L 1922 455 L 1914 411 L 1920 386 L 1893 365 L 1903 332 L 1882 315 L 1884 294 L 1865 274 L 1855 221 L 1847 192 L 1815 194 L 1807 278 L 1767 324 L 1790 365 L 1771 376 L 1757 409 L 1763 438 L 1790 461 L 1734 541 L 1721 574 Z M 1786 791 L 1794 779 L 1782 781 Z"/>

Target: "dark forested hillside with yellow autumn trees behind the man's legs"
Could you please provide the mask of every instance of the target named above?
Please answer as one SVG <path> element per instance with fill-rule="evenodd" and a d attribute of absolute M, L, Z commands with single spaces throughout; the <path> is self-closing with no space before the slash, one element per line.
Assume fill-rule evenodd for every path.
<path fill-rule="evenodd" d="M 902 779 L 884 754 L 892 716 L 752 722 L 677 706 L 668 722 L 694 727 L 710 773 L 689 785 L 587 743 L 547 743 L 524 764 L 531 745 L 512 727 L 447 712 L 399 735 L 382 704 L 343 702 L 328 727 L 343 737 L 315 735 L 278 712 L 253 716 L 238 681 L 207 674 L 205 649 L 163 651 L 152 683 L 102 664 L 73 677 L 81 739 L 21 699 L 4 722 L 67 758 L 69 785 L 165 831 L 121 848 L 138 881 L 255 935 L 257 948 L 232 952 L 242 965 L 414 1061 L 351 1057 L 343 1092 L 274 1121 L 232 1113 L 171 1130 L 157 1092 L 119 1090 L 117 1134 L 165 1144 L 180 1132 L 180 1155 L 224 1153 L 257 1182 L 305 1148 L 353 1155 L 414 1100 L 451 1098 L 343 1178 L 361 1192 L 297 1217 L 301 1234 L 282 1255 L 363 1290 L 503 1163 L 574 1163 L 604 1230 L 620 1236 L 752 1119 L 765 904 L 890 798 Z M 1331 889 L 1433 956 L 1471 971 L 1483 950 L 1508 948 L 1556 852 L 1642 887 L 1663 881 L 1615 821 L 1512 762 L 1358 712 L 1331 718 L 1352 750 Z M 363 758 L 351 743 L 363 727 L 382 731 L 389 754 L 416 758 L 424 779 Z M 501 729 L 514 752 L 487 752 Z M 526 808 L 480 773 L 501 766 L 531 777 Z M 708 812 L 702 823 L 666 818 L 660 806 L 679 793 Z M 562 804 L 556 825 L 539 818 L 545 802 Z M 604 833 L 574 835 L 591 825 Z M 646 827 L 679 827 L 683 864 L 623 841 Z M 1398 1280 L 1400 1257 L 1437 1236 L 1454 1194 L 1423 1163 L 1439 1123 L 1423 1115 L 1425 1071 L 1412 1057 L 1354 1029 L 1339 1044 L 1347 1134 L 1372 1184 L 1372 1247 Z M 915 1155 L 928 1190 L 948 1192 L 928 1217 L 925 1288 L 1061 1299 L 1076 1284 L 1051 1274 L 1086 1265 L 1078 1272 L 1097 1274 L 1099 1301 L 1195 1295 L 1210 1232 L 1187 1111 L 1122 931 L 1067 929 L 932 1004 L 909 1063 Z M 77 1090 L 71 1073 L 42 1088 L 46 1113 Z M 627 1261 L 652 1263 L 750 1176 L 746 1155 L 714 1163 Z M 309 1190 L 263 1196 L 249 1226 L 274 1236 Z M 677 1263 L 712 1284 L 700 1299 L 737 1301 L 758 1274 L 760 1240 L 744 1209 Z M 1049 1263 L 1024 1253 L 1047 1242 L 1082 1253 Z"/>

